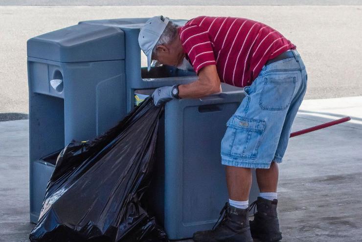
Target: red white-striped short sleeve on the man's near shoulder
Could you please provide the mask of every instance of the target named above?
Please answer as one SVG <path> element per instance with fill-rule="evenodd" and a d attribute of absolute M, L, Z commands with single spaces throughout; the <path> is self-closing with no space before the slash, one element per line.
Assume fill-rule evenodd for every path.
<path fill-rule="evenodd" d="M 216 65 L 214 51 L 208 33 L 198 25 L 185 25 L 180 38 L 183 50 L 187 53 L 196 73 L 209 65 Z"/>

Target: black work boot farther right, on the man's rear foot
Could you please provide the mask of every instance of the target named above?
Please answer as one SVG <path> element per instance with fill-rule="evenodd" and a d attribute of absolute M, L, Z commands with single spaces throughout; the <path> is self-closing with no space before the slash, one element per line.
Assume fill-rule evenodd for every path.
<path fill-rule="evenodd" d="M 278 200 L 268 200 L 258 196 L 257 200 L 250 204 L 250 211 L 252 207 L 258 210 L 255 213 L 254 220 L 250 221 L 250 232 L 252 238 L 256 238 L 262 242 L 273 242 L 282 239 L 282 233 L 279 229 L 279 220 L 276 213 L 276 206 Z"/>

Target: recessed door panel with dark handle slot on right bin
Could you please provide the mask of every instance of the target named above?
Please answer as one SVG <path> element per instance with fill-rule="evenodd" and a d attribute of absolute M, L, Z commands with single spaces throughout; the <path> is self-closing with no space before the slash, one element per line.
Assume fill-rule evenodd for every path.
<path fill-rule="evenodd" d="M 227 106 L 230 104 L 183 109 L 182 206 L 187 208 L 182 211 L 184 226 L 208 223 L 215 219 L 215 215 L 220 212 L 220 204 L 227 199 L 225 183 L 220 182 L 225 180 L 225 171 L 218 159 L 220 142 L 230 113 L 227 112 L 230 109 Z M 236 107 L 238 103 L 231 106 Z M 207 177 L 209 179 L 205 179 Z"/>

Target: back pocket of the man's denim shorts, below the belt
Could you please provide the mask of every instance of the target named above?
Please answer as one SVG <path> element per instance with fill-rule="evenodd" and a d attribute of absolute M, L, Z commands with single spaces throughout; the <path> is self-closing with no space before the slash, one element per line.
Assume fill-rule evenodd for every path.
<path fill-rule="evenodd" d="M 295 77 L 264 78 L 259 106 L 263 110 L 285 110 L 291 104 L 295 91 Z"/>

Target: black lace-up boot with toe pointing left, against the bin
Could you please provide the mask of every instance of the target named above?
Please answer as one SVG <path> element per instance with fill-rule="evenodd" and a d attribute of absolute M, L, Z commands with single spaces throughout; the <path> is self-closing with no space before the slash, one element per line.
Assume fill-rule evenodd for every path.
<path fill-rule="evenodd" d="M 227 202 L 220 212 L 220 218 L 224 211 L 223 219 L 212 230 L 194 234 L 194 242 L 252 242 L 248 209 L 235 208 Z"/>

